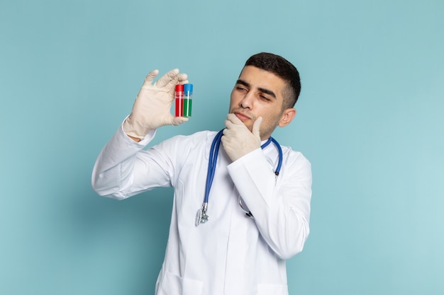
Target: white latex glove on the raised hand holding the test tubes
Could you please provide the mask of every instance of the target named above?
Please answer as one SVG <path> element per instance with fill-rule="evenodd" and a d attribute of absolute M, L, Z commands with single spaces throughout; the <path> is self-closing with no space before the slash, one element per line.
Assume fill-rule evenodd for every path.
<path fill-rule="evenodd" d="M 143 139 L 152 129 L 165 125 L 176 126 L 188 120 L 187 117 L 174 117 L 171 114 L 175 86 L 187 83 L 187 74 L 179 74 L 178 69 L 172 69 L 152 84 L 157 74 L 157 69 L 148 73 L 135 98 L 131 115 L 123 122 L 123 131 L 131 137 Z"/>

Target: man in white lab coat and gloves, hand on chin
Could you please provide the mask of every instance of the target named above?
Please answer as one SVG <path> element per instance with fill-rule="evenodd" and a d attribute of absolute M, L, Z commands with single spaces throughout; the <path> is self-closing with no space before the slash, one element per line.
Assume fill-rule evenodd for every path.
<path fill-rule="evenodd" d="M 309 236 L 311 165 L 289 147 L 279 153 L 276 144 L 261 145 L 277 126 L 294 119 L 298 71 L 271 53 L 247 60 L 231 92 L 218 153 L 211 149 L 217 133 L 211 131 L 143 150 L 159 127 L 187 121 L 170 111 L 174 87 L 187 83 L 187 75 L 174 69 L 154 82 L 157 74 L 146 77 L 131 115 L 102 149 L 92 174 L 94 190 L 115 199 L 174 187 L 155 294 L 288 294 L 285 260 L 299 253 Z M 209 218 L 199 223 L 196 211 L 206 194 L 211 152 L 218 158 Z"/>

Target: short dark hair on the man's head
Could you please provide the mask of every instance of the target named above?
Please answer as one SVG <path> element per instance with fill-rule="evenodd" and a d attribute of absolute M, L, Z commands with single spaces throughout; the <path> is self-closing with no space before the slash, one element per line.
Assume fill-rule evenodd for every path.
<path fill-rule="evenodd" d="M 284 59 L 284 57 L 269 52 L 260 52 L 252 55 L 245 62 L 245 66 L 255 66 L 258 69 L 270 71 L 287 82 L 287 89 L 284 89 L 282 93 L 284 97 L 282 108 L 294 107 L 299 98 L 299 93 L 301 93 L 301 78 L 296 66 Z"/>

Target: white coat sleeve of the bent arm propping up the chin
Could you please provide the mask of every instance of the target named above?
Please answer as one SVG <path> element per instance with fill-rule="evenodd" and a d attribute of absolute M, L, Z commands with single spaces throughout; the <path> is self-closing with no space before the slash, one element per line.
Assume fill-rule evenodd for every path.
<path fill-rule="evenodd" d="M 279 258 L 304 248 L 309 236 L 311 164 L 295 151 L 284 154 L 276 178 L 261 149 L 231 163 L 228 173 L 248 206 L 262 238 Z"/>

